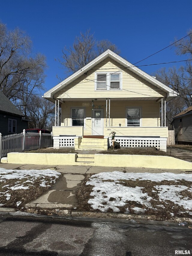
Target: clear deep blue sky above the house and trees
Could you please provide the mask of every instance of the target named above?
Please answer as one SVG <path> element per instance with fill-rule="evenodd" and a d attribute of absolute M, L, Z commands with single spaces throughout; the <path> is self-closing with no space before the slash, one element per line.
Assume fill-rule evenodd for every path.
<path fill-rule="evenodd" d="M 80 31 L 91 29 L 97 40 L 108 39 L 131 63 L 168 46 L 174 38 L 182 38 L 192 28 L 191 0 L 7 0 L 1 1 L 0 20 L 8 29 L 19 27 L 32 38 L 34 52 L 47 59 L 46 89 L 55 86 L 67 74 L 55 61 L 61 49 L 72 46 Z M 168 48 L 140 65 L 186 59 Z M 179 64 L 175 64 L 179 67 Z M 173 64 L 141 67 L 152 74 Z"/>

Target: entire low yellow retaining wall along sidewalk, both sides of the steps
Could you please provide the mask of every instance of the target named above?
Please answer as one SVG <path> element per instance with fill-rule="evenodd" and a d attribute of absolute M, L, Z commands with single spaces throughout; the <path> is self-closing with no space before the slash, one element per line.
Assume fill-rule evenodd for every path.
<path fill-rule="evenodd" d="M 8 153 L 8 164 L 44 165 L 90 165 L 76 162 L 77 154 L 57 153 Z M 104 167 L 143 167 L 192 170 L 192 163 L 171 156 L 159 155 L 107 155 L 95 154 L 92 166 Z"/>

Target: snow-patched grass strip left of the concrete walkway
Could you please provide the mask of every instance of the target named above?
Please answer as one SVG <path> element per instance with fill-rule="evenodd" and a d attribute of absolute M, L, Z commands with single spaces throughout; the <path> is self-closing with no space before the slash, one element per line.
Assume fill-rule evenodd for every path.
<path fill-rule="evenodd" d="M 21 207 L 53 185 L 60 176 L 54 170 L 7 170 L 0 168 L 0 207 Z M 1 211 L 1 208 L 0 208 Z"/>

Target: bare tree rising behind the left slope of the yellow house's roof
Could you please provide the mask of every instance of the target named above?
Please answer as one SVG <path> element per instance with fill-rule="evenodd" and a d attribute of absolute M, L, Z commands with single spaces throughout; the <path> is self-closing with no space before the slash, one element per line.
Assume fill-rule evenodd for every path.
<path fill-rule="evenodd" d="M 73 47 L 67 48 L 66 46 L 62 50 L 62 59 L 57 59 L 64 70 L 68 73 L 74 73 L 91 62 L 101 53 L 107 49 L 119 54 L 115 44 L 112 44 L 109 40 L 96 41 L 94 34 L 91 34 L 90 29 L 83 34 L 80 33 L 79 37 L 75 38 Z M 63 80 L 63 78 L 58 78 Z"/>

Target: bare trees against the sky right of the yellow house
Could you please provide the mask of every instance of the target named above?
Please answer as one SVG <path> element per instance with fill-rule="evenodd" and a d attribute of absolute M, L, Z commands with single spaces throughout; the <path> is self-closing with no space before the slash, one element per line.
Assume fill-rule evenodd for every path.
<path fill-rule="evenodd" d="M 192 33 L 192 30 L 188 34 Z M 192 56 L 192 34 L 187 38 L 177 42 L 175 45 L 176 54 Z M 186 61 L 180 68 L 162 68 L 155 74 L 156 79 L 166 84 L 173 90 L 179 92 L 179 97 L 167 103 L 167 123 L 171 128 L 173 116 L 180 113 L 192 105 L 192 65 L 191 61 Z"/>

